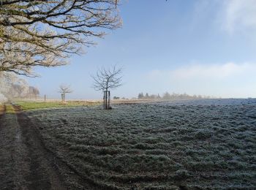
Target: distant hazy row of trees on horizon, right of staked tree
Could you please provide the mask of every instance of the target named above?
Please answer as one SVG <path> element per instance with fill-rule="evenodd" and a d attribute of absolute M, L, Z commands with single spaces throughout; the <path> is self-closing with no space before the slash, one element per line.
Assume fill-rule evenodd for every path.
<path fill-rule="evenodd" d="M 143 94 L 143 92 L 138 94 L 138 99 L 210 99 L 213 98 L 211 96 L 202 96 L 202 95 L 189 95 L 189 94 L 170 94 L 168 92 L 165 92 L 164 94 L 162 94 L 162 96 L 159 96 L 159 94 L 151 94 L 149 95 L 148 93 L 146 93 L 145 95 Z"/>

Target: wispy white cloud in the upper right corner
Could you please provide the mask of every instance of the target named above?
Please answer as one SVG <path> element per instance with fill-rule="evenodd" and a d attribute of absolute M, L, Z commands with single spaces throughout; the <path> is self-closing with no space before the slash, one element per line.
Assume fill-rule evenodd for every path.
<path fill-rule="evenodd" d="M 256 29 L 256 1 L 255 0 L 228 0 L 223 1 L 222 28 L 230 34 L 236 31 Z"/>

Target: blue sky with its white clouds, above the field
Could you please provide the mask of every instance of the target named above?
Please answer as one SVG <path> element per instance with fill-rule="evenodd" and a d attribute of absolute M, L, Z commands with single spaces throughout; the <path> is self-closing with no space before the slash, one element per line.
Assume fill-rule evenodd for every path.
<path fill-rule="evenodd" d="M 119 7 L 122 28 L 73 56 L 70 64 L 37 68 L 29 78 L 41 95 L 59 98 L 61 83 L 70 99 L 99 99 L 90 75 L 101 66 L 124 67 L 124 86 L 112 96 L 140 92 L 256 97 L 255 0 L 129 0 Z"/>

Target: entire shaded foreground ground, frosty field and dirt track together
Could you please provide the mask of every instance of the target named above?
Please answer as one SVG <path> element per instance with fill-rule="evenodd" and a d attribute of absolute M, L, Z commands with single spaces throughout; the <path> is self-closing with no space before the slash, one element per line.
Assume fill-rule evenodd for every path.
<path fill-rule="evenodd" d="M 1 106 L 2 189 L 256 188 L 256 99 L 22 108 Z"/>

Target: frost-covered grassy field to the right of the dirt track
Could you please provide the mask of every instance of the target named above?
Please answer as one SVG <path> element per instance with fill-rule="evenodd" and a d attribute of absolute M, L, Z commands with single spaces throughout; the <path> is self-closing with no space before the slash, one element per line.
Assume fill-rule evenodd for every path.
<path fill-rule="evenodd" d="M 103 189 L 255 189 L 256 100 L 29 113 L 46 146 Z M 79 184 L 76 184 L 79 186 Z"/>

